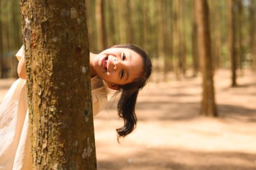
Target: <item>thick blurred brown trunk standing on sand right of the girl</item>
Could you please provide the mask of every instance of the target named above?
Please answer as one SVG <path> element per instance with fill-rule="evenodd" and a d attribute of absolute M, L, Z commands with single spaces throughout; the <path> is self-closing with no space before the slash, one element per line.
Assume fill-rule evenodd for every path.
<path fill-rule="evenodd" d="M 217 116 L 214 97 L 214 81 L 212 71 L 212 56 L 210 46 L 209 8 L 207 0 L 195 1 L 197 11 L 197 34 L 199 43 L 199 57 L 203 77 L 203 99 L 201 101 L 201 115 Z"/>

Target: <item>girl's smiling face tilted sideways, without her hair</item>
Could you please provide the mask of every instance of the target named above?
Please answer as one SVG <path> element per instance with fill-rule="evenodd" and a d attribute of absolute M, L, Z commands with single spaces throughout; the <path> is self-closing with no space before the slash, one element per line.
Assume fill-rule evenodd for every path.
<path fill-rule="evenodd" d="M 143 59 L 129 48 L 108 48 L 93 60 L 97 75 L 111 85 L 125 85 L 139 77 Z"/>

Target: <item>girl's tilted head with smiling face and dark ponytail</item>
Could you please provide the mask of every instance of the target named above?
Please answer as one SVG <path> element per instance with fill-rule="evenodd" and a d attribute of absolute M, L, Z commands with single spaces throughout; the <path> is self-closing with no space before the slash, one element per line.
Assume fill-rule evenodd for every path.
<path fill-rule="evenodd" d="M 119 136 L 126 136 L 136 125 L 135 103 L 139 90 L 151 75 L 152 63 L 148 54 L 133 44 L 119 44 L 108 48 L 94 59 L 94 69 L 110 89 L 121 92 L 118 103 L 119 116 L 125 126 L 117 129 Z"/>

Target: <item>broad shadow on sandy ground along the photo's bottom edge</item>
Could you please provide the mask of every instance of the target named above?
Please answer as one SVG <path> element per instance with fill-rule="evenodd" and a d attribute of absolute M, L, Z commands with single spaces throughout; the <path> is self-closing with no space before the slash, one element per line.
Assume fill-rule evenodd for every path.
<path fill-rule="evenodd" d="M 98 160 L 101 170 L 255 170 L 256 154 L 200 152 L 177 148 L 141 149 L 132 155 Z"/>

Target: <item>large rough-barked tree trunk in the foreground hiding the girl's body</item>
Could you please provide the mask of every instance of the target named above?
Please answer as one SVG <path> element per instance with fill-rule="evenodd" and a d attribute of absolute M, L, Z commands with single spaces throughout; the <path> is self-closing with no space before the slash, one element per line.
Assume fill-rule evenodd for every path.
<path fill-rule="evenodd" d="M 96 169 L 84 0 L 21 0 L 34 169 Z"/>

